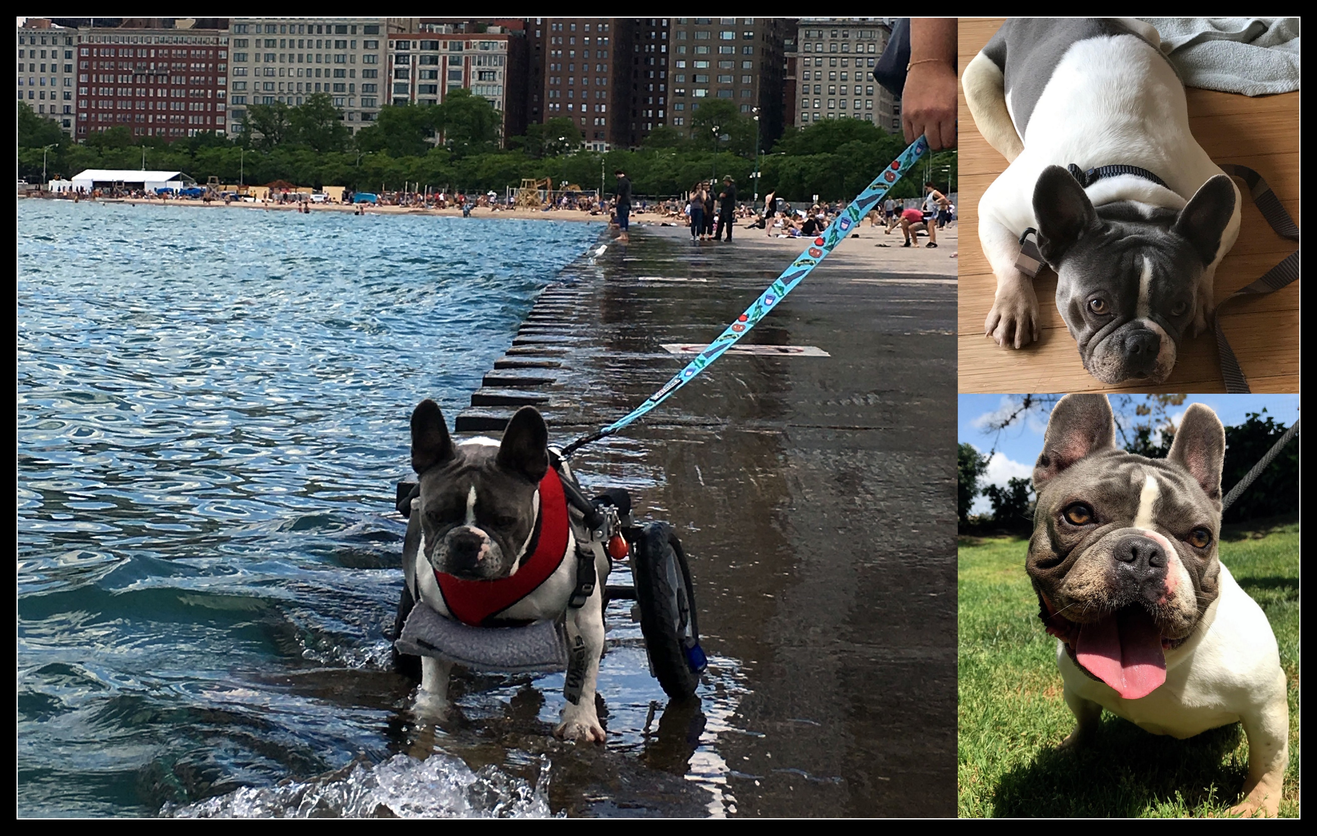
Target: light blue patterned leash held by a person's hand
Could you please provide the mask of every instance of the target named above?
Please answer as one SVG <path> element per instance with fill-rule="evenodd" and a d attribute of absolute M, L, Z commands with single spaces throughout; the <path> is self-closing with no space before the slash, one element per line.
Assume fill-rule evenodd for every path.
<path fill-rule="evenodd" d="M 827 232 L 820 237 L 814 238 L 814 244 L 801 253 L 801 257 L 792 262 L 792 266 L 782 271 L 782 275 L 777 276 L 777 280 L 769 284 L 768 290 L 760 294 L 755 303 L 745 308 L 745 312 L 736 317 L 736 320 L 730 324 L 723 333 L 718 334 L 718 338 L 709 344 L 703 352 L 695 355 L 695 359 L 686 363 L 686 367 L 673 375 L 670 380 L 662 384 L 657 392 L 651 395 L 648 400 L 627 413 L 626 417 L 608 424 L 603 429 L 590 433 L 589 436 L 582 436 L 573 441 L 572 444 L 562 448 L 561 456 L 564 458 L 570 457 L 582 446 L 590 444 L 591 441 L 598 441 L 616 433 L 619 429 L 631 424 L 639 419 L 645 412 L 649 412 L 662 402 L 668 400 L 682 386 L 690 383 L 695 379 L 701 371 L 707 369 L 715 359 L 722 357 L 722 354 L 736 345 L 736 342 L 749 333 L 761 319 L 764 319 L 768 312 L 782 299 L 786 294 L 795 290 L 805 276 L 807 276 L 814 267 L 818 267 L 819 262 L 827 258 L 827 254 L 832 249 L 844 241 L 851 229 L 860 225 L 860 220 L 868 215 L 873 207 L 882 200 L 884 195 L 896 186 L 897 180 L 919 161 L 928 150 L 928 141 L 919 137 L 910 144 L 906 150 L 901 151 L 901 155 L 892 161 L 892 165 L 882 170 L 882 174 L 873 178 L 873 182 L 860 192 L 860 196 L 851 201 L 851 205 L 846 207 L 842 213 L 828 225 Z"/>

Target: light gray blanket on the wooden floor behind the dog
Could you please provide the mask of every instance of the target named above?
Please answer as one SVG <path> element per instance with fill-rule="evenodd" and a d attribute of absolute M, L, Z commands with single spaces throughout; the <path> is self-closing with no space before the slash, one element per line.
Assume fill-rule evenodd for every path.
<path fill-rule="evenodd" d="M 1246 96 L 1299 90 L 1297 17 L 1141 17 L 1188 87 Z"/>

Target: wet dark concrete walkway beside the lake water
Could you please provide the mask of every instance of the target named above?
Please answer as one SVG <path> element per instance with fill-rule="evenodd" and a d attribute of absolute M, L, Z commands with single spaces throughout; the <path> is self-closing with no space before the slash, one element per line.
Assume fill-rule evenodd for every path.
<path fill-rule="evenodd" d="M 687 362 L 661 346 L 707 344 L 786 266 L 780 250 L 651 226 L 578 259 L 457 432 L 497 433 L 522 403 L 557 446 L 616 420 Z M 703 646 L 735 660 L 743 692 L 714 744 L 720 806 L 707 781 L 673 781 L 699 754 L 664 753 L 660 733 L 653 758 L 568 758 L 557 808 L 955 815 L 956 261 L 942 251 L 911 271 L 843 242 L 741 341 L 828 357 L 724 354 L 576 456 L 587 487 L 628 487 L 637 516 L 677 527 Z"/>

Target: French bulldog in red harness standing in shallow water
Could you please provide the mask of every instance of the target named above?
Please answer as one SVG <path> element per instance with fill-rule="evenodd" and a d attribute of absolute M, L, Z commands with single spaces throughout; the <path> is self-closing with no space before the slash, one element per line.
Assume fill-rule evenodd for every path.
<path fill-rule="evenodd" d="M 416 600 L 440 616 L 471 625 L 518 625 L 565 616 L 568 703 L 554 735 L 603 743 L 595 682 L 603 654 L 603 579 L 610 562 L 602 549 L 595 550 L 599 581 L 583 606 L 569 608 L 577 585 L 577 541 L 568 523 L 574 511 L 553 482 L 572 477 L 569 471 L 561 477 L 549 471 L 544 419 L 533 407 L 523 407 L 502 442 L 471 438 L 454 445 L 439 405 L 424 400 L 412 412 L 411 437 L 420 498 L 412 502 L 403 546 L 407 585 L 399 624 L 414 590 Z M 464 599 L 468 592 L 470 598 Z M 448 710 L 450 673 L 450 664 L 421 657 L 417 710 L 435 715 Z"/>

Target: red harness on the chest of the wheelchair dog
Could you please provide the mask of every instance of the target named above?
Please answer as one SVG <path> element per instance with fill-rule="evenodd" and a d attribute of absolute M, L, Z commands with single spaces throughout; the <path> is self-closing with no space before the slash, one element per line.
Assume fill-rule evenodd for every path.
<path fill-rule="evenodd" d="M 549 579 L 568 553 L 568 502 L 562 482 L 553 467 L 540 479 L 540 517 L 535 549 L 522 560 L 516 574 L 497 581 L 465 581 L 436 571 L 435 581 L 444 596 L 444 604 L 453 616 L 471 627 L 481 627 L 489 619 L 522 600 Z"/>

